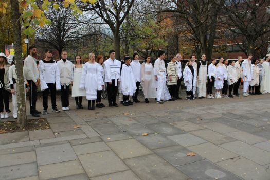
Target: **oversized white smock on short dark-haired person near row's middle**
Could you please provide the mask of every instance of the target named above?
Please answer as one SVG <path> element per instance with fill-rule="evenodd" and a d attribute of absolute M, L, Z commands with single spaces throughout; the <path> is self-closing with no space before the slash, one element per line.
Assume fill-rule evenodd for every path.
<path fill-rule="evenodd" d="M 121 70 L 120 91 L 123 95 L 133 96 L 136 91 L 136 82 L 130 65 L 123 64 Z"/>

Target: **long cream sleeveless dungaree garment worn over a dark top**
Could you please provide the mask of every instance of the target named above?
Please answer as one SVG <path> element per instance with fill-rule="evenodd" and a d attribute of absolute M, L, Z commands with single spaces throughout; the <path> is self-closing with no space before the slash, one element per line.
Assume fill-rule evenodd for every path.
<path fill-rule="evenodd" d="M 199 62 L 201 63 L 201 61 Z M 207 63 L 200 66 L 198 74 L 198 97 L 206 97 Z"/>

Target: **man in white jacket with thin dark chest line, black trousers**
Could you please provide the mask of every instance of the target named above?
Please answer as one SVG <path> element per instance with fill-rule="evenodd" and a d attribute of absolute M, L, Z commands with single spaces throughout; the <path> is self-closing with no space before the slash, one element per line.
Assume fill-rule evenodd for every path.
<path fill-rule="evenodd" d="M 121 62 L 115 59 L 115 50 L 110 50 L 109 55 L 110 58 L 104 62 L 104 77 L 107 83 L 108 102 L 109 107 L 118 107 L 116 94 L 118 91 Z"/>

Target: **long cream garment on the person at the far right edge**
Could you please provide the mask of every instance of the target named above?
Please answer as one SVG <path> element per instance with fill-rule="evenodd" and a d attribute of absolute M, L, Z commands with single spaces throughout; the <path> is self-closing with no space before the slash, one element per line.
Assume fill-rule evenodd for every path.
<path fill-rule="evenodd" d="M 262 63 L 264 76 L 262 77 L 260 92 L 262 94 L 270 93 L 270 64 L 267 61 Z"/>

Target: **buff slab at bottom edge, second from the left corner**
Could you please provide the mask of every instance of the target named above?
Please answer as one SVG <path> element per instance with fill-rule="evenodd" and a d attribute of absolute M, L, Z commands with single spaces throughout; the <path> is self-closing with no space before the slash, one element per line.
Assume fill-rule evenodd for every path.
<path fill-rule="evenodd" d="M 85 173 L 79 160 L 71 160 L 62 163 L 39 166 L 39 177 L 52 179 L 75 174 Z"/>

